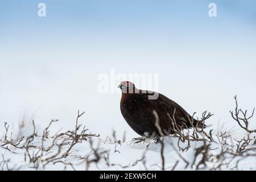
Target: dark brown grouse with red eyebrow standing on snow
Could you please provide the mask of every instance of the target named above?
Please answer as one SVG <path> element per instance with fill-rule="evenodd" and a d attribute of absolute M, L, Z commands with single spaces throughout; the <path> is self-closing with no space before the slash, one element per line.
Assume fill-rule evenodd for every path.
<path fill-rule="evenodd" d="M 127 124 L 142 137 L 154 138 L 175 134 L 177 130 L 197 127 L 204 129 L 204 120 L 193 118 L 183 107 L 157 92 L 137 89 L 133 82 L 122 81 L 118 88 L 122 91 L 120 109 Z M 157 98 L 149 99 L 152 95 Z"/>

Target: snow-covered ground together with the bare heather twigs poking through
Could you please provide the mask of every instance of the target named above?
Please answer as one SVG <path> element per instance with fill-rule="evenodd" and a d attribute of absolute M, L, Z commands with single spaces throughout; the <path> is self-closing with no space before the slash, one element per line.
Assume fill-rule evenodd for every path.
<path fill-rule="evenodd" d="M 135 143 L 117 139 L 114 134 L 101 138 L 82 128 L 79 121 L 77 130 L 60 130 L 57 134 L 50 133 L 51 126 L 43 131 L 35 128 L 22 140 L 12 140 L 13 134 L 8 130 L 0 142 L 0 170 L 256 169 L 253 135 L 249 140 L 245 137 L 236 141 L 229 133 L 213 131 L 213 142 L 190 141 L 188 150 L 182 151 L 179 149 L 188 143 L 182 143 L 178 137 L 164 137 L 159 143 Z"/>

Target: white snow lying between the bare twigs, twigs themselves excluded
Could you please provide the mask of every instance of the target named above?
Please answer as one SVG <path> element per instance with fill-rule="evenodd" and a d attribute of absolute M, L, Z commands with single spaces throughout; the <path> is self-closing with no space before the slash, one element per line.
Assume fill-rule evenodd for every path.
<path fill-rule="evenodd" d="M 10 133 L 10 131 L 9 131 Z M 90 131 L 86 131 L 90 134 Z M 40 148 L 42 146 L 42 135 L 38 132 L 38 136 L 31 142 L 32 146 L 35 148 L 28 149 L 30 155 L 36 154 L 41 155 Z M 10 137 L 10 135 L 8 135 Z M 10 139 L 10 138 L 7 139 Z M 204 145 L 202 141 L 191 141 L 191 147 L 186 151 L 179 151 L 177 146 L 177 137 L 164 137 L 163 139 L 163 157 L 164 157 L 164 170 L 255 170 L 256 169 L 256 159 L 255 153 L 250 152 L 251 156 L 234 156 L 231 154 L 225 155 L 224 160 L 217 159 L 217 155 L 221 154 L 221 148 L 223 147 L 216 135 L 214 135 L 214 140 L 216 142 L 207 142 L 210 144 L 209 152 L 207 156 L 209 160 L 206 162 L 206 166 L 201 164 L 199 168 L 196 168 L 196 164 L 202 159 L 202 154 L 196 158 L 195 164 L 193 160 L 195 158 L 196 149 Z M 23 140 L 19 146 L 26 141 Z M 26 161 L 24 156 L 26 153 L 25 148 L 17 148 L 11 146 L 10 144 L 0 147 L 0 154 L 2 156 L 0 159 L 0 169 L 2 170 L 161 170 L 162 166 L 162 156 L 161 156 L 161 143 L 155 143 L 153 140 L 146 140 L 144 143 L 135 144 L 132 140 L 127 140 L 125 142 L 118 142 L 109 137 L 106 139 L 101 139 L 100 137 L 91 137 L 87 140 L 81 140 L 75 144 L 72 150 L 69 152 L 67 158 L 62 158 L 61 156 L 68 150 L 71 146 L 72 140 L 65 140 L 64 145 L 61 147 L 60 154 L 55 156 L 55 160 L 47 163 L 47 158 L 57 154 L 59 147 L 57 144 L 61 145 L 63 139 L 56 139 L 55 145 L 48 152 L 43 151 L 42 156 L 38 160 L 38 167 L 36 168 L 32 162 L 29 162 L 28 156 Z M 92 146 L 90 143 L 92 142 Z M 44 149 L 51 146 L 53 142 L 52 135 L 49 135 L 43 142 Z M 4 139 L 2 138 L 0 145 L 4 144 Z M 181 143 L 185 146 L 186 143 Z M 8 149 L 6 149 L 8 147 Z M 236 150 L 236 145 L 225 145 L 224 150 L 229 147 Z M 248 148 L 253 148 L 253 143 Z M 94 151 L 100 154 L 100 158 L 94 155 Z M 247 153 L 246 153 L 247 154 Z M 60 158 L 60 159 L 58 159 Z M 98 160 L 97 163 L 90 163 L 86 166 L 86 160 Z M 242 160 L 241 160 L 242 159 Z M 188 165 L 186 162 L 188 162 Z M 236 164 L 238 165 L 236 167 Z M 65 164 L 64 164 L 65 163 Z M 222 163 L 220 168 L 216 168 Z M 72 164 L 72 166 L 70 165 Z M 192 165 L 193 164 L 193 165 Z M 45 165 L 45 166 L 44 166 Z"/>

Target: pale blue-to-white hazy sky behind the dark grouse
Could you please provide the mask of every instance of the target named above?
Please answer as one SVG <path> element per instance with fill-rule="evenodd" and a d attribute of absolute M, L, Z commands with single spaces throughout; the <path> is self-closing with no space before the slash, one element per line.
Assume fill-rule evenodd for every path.
<path fill-rule="evenodd" d="M 38 17 L 40 2 L 46 17 Z M 211 2 L 216 18 L 208 16 Z M 112 68 L 159 73 L 160 92 L 190 113 L 209 109 L 212 123 L 229 121 L 234 94 L 246 109 L 255 106 L 255 47 L 253 0 L 1 0 L 0 121 L 26 114 L 42 125 L 69 123 L 81 109 L 94 130 L 135 135 L 119 113 L 120 94 L 97 93 L 98 74 Z"/>

